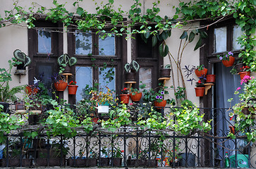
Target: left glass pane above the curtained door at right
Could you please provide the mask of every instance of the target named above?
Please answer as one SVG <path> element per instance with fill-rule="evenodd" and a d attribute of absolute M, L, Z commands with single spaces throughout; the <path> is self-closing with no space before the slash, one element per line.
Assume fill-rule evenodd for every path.
<path fill-rule="evenodd" d="M 226 51 L 226 27 L 214 29 L 214 53 Z"/>

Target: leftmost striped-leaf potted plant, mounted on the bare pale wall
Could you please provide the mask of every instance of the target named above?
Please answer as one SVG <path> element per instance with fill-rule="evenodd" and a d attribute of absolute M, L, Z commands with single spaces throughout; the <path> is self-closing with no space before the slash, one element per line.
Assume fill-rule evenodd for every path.
<path fill-rule="evenodd" d="M 16 74 L 25 75 L 25 69 L 31 63 L 30 57 L 28 57 L 26 54 L 20 51 L 20 49 L 16 49 L 15 51 L 13 51 L 13 56 L 15 58 L 13 59 L 13 61 L 16 62 L 15 65 L 17 66 Z"/>

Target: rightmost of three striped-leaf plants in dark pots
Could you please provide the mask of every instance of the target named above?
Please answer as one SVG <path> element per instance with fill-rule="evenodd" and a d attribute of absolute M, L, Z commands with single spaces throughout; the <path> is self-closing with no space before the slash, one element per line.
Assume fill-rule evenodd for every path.
<path fill-rule="evenodd" d="M 126 70 L 126 81 L 133 82 L 135 81 L 136 73 L 140 69 L 140 65 L 137 61 L 132 61 L 124 65 L 124 70 Z"/>

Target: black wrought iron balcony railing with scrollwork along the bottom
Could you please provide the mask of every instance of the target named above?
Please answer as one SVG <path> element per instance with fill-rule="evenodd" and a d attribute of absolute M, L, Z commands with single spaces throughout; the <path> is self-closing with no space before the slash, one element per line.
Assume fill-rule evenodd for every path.
<path fill-rule="evenodd" d="M 173 108 L 159 109 L 163 117 Z M 121 127 L 116 132 L 95 130 L 49 138 L 40 134 L 28 139 L 22 132 L 8 134 L 0 147 L 1 167 L 8 166 L 170 166 L 225 167 L 228 152 L 230 167 L 255 168 L 255 144 L 245 137 L 227 137 L 232 127 L 228 109 L 200 108 L 206 119 L 212 119 L 207 133 L 190 132 L 182 135 L 165 130 L 140 130 Z M 138 118 L 138 114 L 134 114 Z M 175 116 L 173 116 L 175 120 Z M 96 124 L 100 125 L 100 124 Z M 231 126 L 231 127 L 229 127 Z M 234 131 L 236 132 L 236 131 Z M 40 132 L 44 133 L 44 132 Z M 237 133 L 240 135 L 239 133 Z"/>

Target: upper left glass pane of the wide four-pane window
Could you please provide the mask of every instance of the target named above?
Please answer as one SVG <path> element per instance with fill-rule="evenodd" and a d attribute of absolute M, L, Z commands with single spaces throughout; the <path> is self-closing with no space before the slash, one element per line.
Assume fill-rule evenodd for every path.
<path fill-rule="evenodd" d="M 92 34 L 90 32 L 75 34 L 75 54 L 92 54 Z"/>

